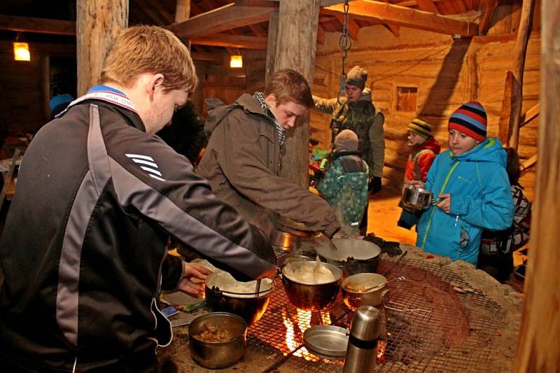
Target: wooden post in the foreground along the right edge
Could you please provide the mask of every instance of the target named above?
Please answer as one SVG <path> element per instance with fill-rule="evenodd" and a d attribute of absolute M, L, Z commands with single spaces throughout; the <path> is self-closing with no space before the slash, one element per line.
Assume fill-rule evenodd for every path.
<path fill-rule="evenodd" d="M 560 2 L 542 0 L 535 204 L 515 372 L 560 372 Z"/>

